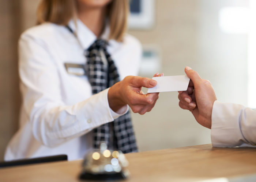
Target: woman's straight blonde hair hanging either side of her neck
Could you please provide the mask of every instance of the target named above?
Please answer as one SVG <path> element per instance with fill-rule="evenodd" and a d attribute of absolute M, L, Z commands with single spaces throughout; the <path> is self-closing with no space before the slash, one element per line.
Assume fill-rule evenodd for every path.
<path fill-rule="evenodd" d="M 112 0 L 108 5 L 109 39 L 123 40 L 127 29 L 128 12 L 128 0 Z M 67 25 L 71 19 L 76 19 L 75 15 L 75 0 L 42 0 L 37 9 L 37 24 L 52 22 Z"/>

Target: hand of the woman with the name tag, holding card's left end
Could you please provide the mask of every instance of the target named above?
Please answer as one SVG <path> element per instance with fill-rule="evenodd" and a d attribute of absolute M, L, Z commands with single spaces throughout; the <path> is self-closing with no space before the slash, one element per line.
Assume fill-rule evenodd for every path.
<path fill-rule="evenodd" d="M 159 93 L 144 94 L 141 89 L 142 87 L 152 88 L 156 85 L 157 81 L 150 78 L 127 76 L 110 87 L 108 91 L 109 107 L 116 112 L 128 104 L 133 112 L 145 114 L 155 106 Z"/>

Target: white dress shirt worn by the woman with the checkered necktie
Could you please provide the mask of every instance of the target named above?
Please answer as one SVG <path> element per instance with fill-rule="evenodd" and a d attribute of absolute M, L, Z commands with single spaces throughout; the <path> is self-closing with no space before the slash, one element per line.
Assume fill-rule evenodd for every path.
<path fill-rule="evenodd" d="M 64 63 L 84 64 L 84 50 L 97 39 L 80 20 L 77 27 L 73 21 L 69 26 L 78 39 L 66 27 L 52 23 L 30 28 L 20 37 L 20 126 L 5 160 L 57 154 L 67 154 L 68 160 L 82 158 L 92 148 L 90 131 L 120 116 L 109 108 L 108 89 L 92 95 L 86 76 L 65 69 Z M 106 28 L 102 37 L 108 34 Z M 121 79 L 138 74 L 142 52 L 138 40 L 125 35 L 123 42 L 110 40 L 107 50 Z"/>

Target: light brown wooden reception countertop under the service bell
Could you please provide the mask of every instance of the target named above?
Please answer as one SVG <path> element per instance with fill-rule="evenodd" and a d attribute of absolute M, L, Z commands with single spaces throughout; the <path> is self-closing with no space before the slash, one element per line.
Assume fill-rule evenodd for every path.
<path fill-rule="evenodd" d="M 211 144 L 125 154 L 126 182 L 200 181 L 256 173 L 256 148 L 215 148 Z M 0 181 L 79 181 L 82 161 L 0 169 Z"/>

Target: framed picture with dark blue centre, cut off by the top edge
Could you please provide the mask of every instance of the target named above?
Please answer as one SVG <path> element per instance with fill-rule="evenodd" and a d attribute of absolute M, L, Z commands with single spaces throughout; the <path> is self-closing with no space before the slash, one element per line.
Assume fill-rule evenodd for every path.
<path fill-rule="evenodd" d="M 155 23 L 155 0 L 130 0 L 130 29 L 150 29 Z"/>

